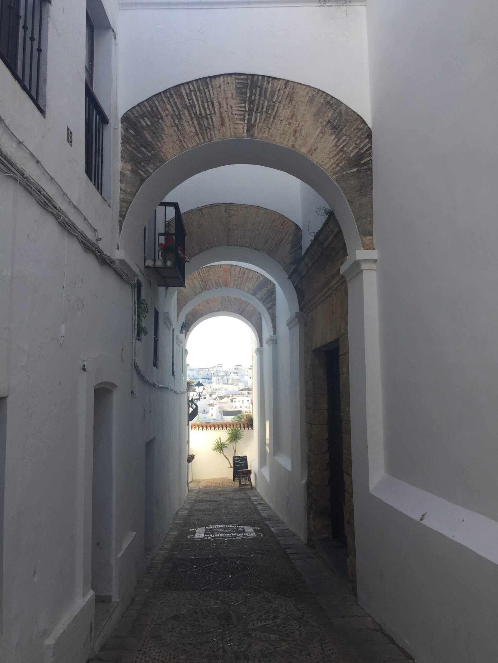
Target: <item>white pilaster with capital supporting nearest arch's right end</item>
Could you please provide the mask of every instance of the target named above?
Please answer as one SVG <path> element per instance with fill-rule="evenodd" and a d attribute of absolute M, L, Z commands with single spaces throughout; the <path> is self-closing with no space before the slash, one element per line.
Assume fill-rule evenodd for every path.
<path fill-rule="evenodd" d="M 376 261 L 376 251 L 356 251 L 341 267 L 347 280 L 355 495 L 357 487 L 370 490 L 384 474 Z"/>

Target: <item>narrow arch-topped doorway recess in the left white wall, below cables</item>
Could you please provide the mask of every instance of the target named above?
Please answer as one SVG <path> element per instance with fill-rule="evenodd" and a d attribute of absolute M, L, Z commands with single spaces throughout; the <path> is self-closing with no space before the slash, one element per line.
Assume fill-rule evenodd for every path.
<path fill-rule="evenodd" d="M 92 589 L 96 603 L 112 601 L 112 390 L 94 391 Z"/>

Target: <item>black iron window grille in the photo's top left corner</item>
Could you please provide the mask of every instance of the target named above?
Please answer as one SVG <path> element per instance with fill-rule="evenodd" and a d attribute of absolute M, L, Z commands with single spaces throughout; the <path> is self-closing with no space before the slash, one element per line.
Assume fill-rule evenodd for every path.
<path fill-rule="evenodd" d="M 0 0 L 0 59 L 41 111 L 42 39 L 46 2 Z"/>

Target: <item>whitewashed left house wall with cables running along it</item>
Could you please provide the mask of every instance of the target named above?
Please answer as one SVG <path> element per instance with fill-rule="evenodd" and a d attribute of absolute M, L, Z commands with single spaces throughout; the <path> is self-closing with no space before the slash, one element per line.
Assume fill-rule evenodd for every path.
<path fill-rule="evenodd" d="M 116 27 L 117 3 L 104 4 Z M 0 144 L 95 239 L 86 215 L 102 238 L 100 247 L 112 254 L 118 237 L 119 145 L 116 139 L 110 141 L 114 159 L 108 202 L 85 174 L 85 3 L 45 3 L 45 7 L 46 114 L 0 63 L 0 116 L 19 139 L 0 120 Z M 109 130 L 117 136 L 116 41 L 112 34 L 110 38 Z M 66 125 L 72 129 L 72 147 L 66 143 Z M 153 548 L 159 546 L 185 498 L 187 422 L 186 417 L 169 414 L 185 412 L 184 397 L 145 385 L 133 371 L 129 285 L 84 252 L 15 179 L 3 174 L 0 233 L 0 396 L 2 410 L 5 403 L 7 410 L 0 660 L 84 663 L 94 633 L 94 387 L 106 383 L 113 389 L 110 554 L 112 599 L 118 601 L 115 617 L 127 605 L 144 568 L 149 440 L 155 444 Z M 142 280 L 151 313 L 145 321 L 149 334 L 139 342 L 137 361 L 149 379 L 181 391 L 181 377 L 173 380 L 167 374 L 171 343 L 163 319 L 164 292 Z M 154 306 L 161 311 L 159 369 L 152 367 Z M 3 488 L 1 483 L 0 473 Z"/>

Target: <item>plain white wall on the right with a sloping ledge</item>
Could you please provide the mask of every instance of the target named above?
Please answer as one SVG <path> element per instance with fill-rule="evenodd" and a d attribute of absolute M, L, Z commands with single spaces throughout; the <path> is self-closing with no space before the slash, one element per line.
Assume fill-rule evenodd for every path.
<path fill-rule="evenodd" d="M 494 663 L 498 8 L 367 18 L 386 475 L 355 483 L 359 597 L 418 661 Z"/>

